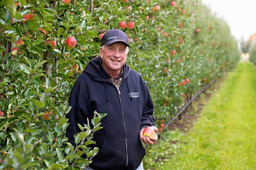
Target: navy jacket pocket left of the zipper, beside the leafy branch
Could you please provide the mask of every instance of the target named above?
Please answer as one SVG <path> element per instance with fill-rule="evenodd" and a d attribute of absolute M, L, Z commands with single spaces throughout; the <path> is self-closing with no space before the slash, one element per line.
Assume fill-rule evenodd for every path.
<path fill-rule="evenodd" d="M 105 139 L 89 166 L 93 169 L 117 170 L 125 166 L 125 161 L 125 141 Z"/>

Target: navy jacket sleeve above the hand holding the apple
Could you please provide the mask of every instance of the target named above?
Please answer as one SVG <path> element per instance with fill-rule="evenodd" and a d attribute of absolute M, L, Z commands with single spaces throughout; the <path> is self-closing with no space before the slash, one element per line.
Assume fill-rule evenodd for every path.
<path fill-rule="evenodd" d="M 153 104 L 151 95 L 149 93 L 149 89 L 147 88 L 147 85 L 145 82 L 144 82 L 144 85 L 145 85 L 146 95 L 143 96 L 143 98 L 145 99 L 145 103 L 142 111 L 140 130 L 147 126 L 155 126 L 155 117 L 153 116 L 154 104 Z"/>

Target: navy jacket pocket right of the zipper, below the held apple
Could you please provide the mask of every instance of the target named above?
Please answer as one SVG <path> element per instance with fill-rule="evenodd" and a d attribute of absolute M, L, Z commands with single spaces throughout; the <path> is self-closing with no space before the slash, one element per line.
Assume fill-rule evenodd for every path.
<path fill-rule="evenodd" d="M 138 168 L 145 154 L 146 151 L 140 139 L 128 140 L 128 164 L 131 168 Z"/>

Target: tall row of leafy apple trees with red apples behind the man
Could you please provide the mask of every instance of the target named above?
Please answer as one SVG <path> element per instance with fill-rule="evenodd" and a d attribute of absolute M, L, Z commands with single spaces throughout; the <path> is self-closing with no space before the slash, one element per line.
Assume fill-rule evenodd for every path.
<path fill-rule="evenodd" d="M 122 29 L 131 46 L 127 63 L 149 86 L 157 124 L 240 56 L 228 24 L 200 0 L 1 0 L 0 168 L 74 169 L 96 155 L 87 145 L 105 114 L 80 126 L 76 149 L 65 137 L 68 97 L 99 53 L 99 34 L 121 29 L 121 21 L 135 24 Z M 69 36 L 77 41 L 70 50 Z"/>

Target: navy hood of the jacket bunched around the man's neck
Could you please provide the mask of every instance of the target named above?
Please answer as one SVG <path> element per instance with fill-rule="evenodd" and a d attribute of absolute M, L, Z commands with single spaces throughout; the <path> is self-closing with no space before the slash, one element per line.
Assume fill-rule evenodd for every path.
<path fill-rule="evenodd" d="M 87 73 L 92 79 L 99 82 L 110 82 L 108 74 L 104 71 L 104 69 L 100 69 L 101 66 L 101 58 L 96 57 L 91 60 L 84 69 L 84 73 Z M 122 81 L 128 77 L 130 73 L 130 67 L 125 63 L 122 66 Z"/>

